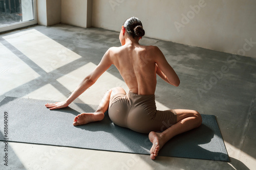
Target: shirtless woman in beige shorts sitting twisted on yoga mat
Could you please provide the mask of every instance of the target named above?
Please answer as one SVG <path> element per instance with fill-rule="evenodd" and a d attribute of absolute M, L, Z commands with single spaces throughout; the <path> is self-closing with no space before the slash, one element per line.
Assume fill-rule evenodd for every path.
<path fill-rule="evenodd" d="M 109 48 L 99 65 L 83 79 L 65 102 L 46 104 L 46 107 L 51 110 L 67 107 L 114 64 L 130 91 L 126 94 L 121 87 L 109 90 L 94 113 L 77 115 L 73 125 L 102 120 L 104 112 L 109 109 L 109 116 L 114 124 L 137 132 L 149 133 L 148 138 L 153 143 L 150 150 L 151 159 L 155 159 L 169 139 L 199 127 L 202 118 L 195 110 L 156 109 L 156 74 L 174 86 L 179 86 L 180 80 L 158 47 L 139 44 L 144 34 L 138 18 L 131 17 L 125 20 L 119 35 L 122 46 Z"/>

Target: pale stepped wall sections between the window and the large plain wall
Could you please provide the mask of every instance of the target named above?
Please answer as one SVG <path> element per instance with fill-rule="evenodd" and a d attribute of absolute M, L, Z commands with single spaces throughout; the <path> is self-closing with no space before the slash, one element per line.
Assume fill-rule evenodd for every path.
<path fill-rule="evenodd" d="M 38 24 L 56 23 L 88 28 L 92 25 L 92 0 L 37 0 Z"/>

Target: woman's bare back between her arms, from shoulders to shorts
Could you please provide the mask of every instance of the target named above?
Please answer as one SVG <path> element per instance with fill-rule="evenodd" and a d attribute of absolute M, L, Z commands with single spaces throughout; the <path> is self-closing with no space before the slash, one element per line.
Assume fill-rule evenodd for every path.
<path fill-rule="evenodd" d="M 111 52 L 113 64 L 133 93 L 155 93 L 157 81 L 153 46 L 129 44 L 113 47 Z"/>

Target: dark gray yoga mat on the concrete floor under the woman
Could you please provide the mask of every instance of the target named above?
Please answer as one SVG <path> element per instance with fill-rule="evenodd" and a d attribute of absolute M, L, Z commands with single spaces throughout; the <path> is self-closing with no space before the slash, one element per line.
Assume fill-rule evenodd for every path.
<path fill-rule="evenodd" d="M 147 134 L 114 125 L 108 112 L 100 122 L 74 127 L 80 112 L 93 112 L 97 106 L 73 103 L 67 108 L 49 110 L 54 101 L 6 97 L 0 103 L 0 140 L 4 136 L 4 112 L 8 113 L 9 141 L 58 145 L 64 147 L 150 154 L 152 143 Z M 229 161 L 214 115 L 202 115 L 203 124 L 169 140 L 160 156 Z"/>

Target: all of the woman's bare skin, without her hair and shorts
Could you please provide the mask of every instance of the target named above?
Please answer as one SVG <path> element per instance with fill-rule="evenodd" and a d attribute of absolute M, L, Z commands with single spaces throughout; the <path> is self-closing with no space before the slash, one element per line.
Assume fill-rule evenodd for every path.
<path fill-rule="evenodd" d="M 99 65 L 89 76 L 83 79 L 65 102 L 46 104 L 46 107 L 51 110 L 67 107 L 80 94 L 91 87 L 112 64 L 117 67 L 129 89 L 136 94 L 155 94 L 156 75 L 171 85 L 179 86 L 180 80 L 176 72 L 168 64 L 159 48 L 140 45 L 140 38 L 133 38 L 122 27 L 119 35 L 122 46 L 109 48 Z M 84 125 L 102 120 L 104 112 L 108 110 L 110 97 L 120 90 L 123 89 L 115 87 L 106 92 L 98 109 L 94 113 L 77 115 L 74 118 L 73 125 Z M 201 115 L 195 110 L 177 109 L 175 111 L 177 112 L 177 123 L 175 125 L 168 127 L 161 133 L 150 132 L 148 134 L 148 138 L 153 143 L 150 150 L 151 159 L 157 157 L 159 150 L 168 140 L 180 133 L 197 128 L 202 123 Z"/>

